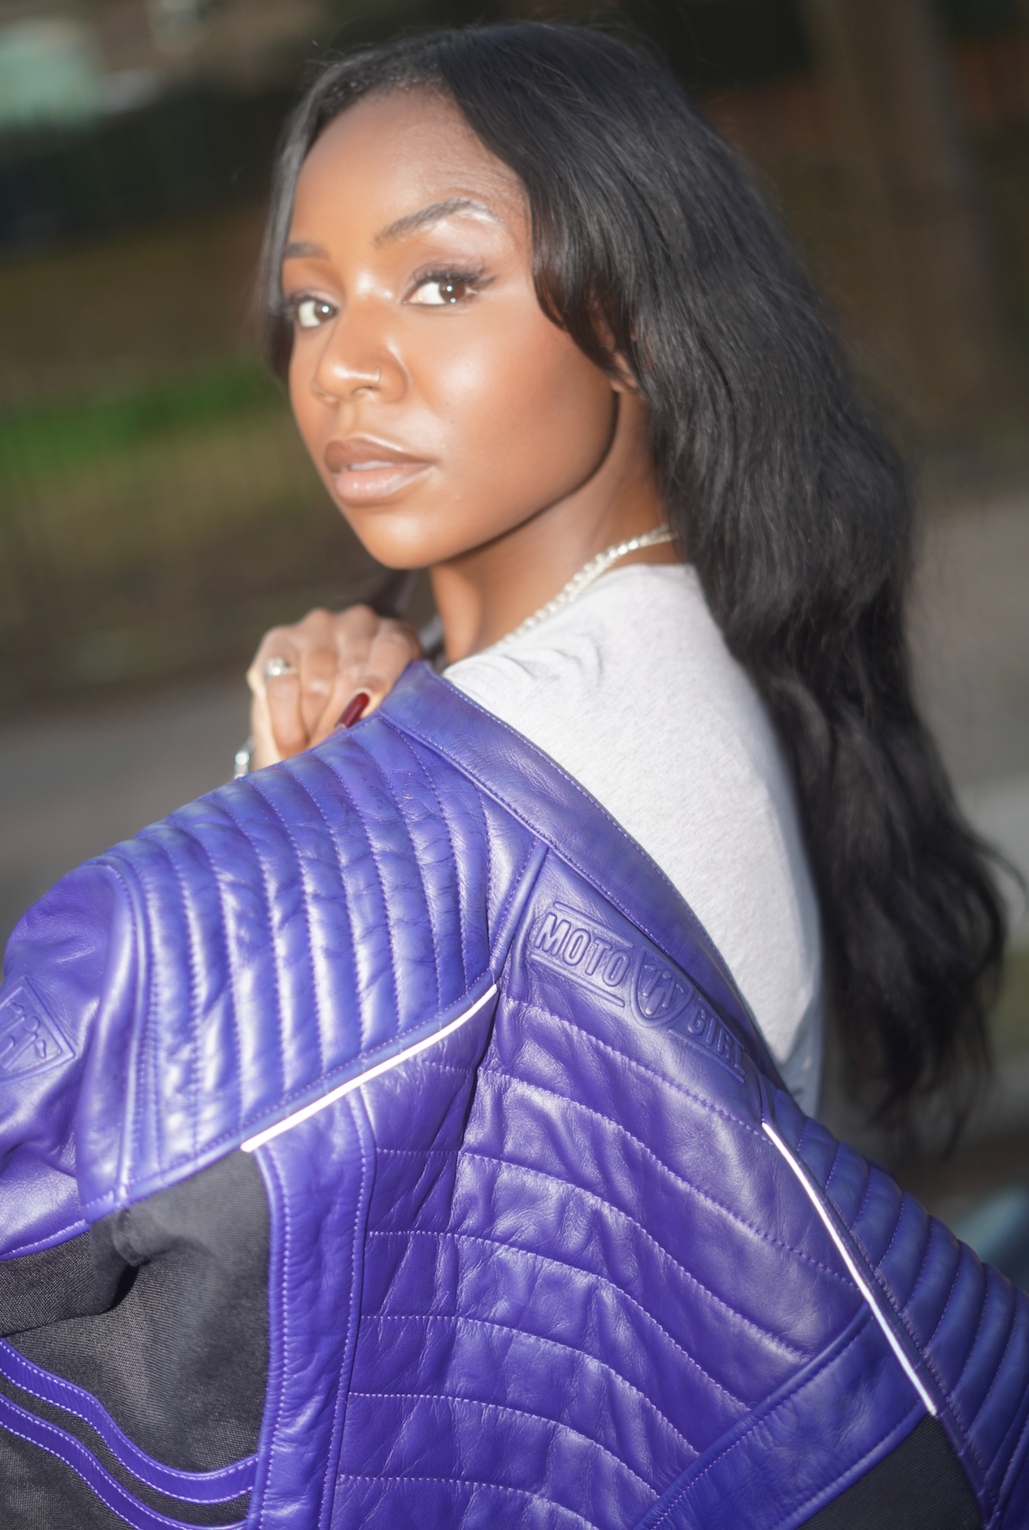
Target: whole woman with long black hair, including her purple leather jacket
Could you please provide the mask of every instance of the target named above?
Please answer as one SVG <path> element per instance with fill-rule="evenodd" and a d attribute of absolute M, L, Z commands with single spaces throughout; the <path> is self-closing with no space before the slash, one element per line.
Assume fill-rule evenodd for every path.
<path fill-rule="evenodd" d="M 15 932 L 5 1524 L 1024 1524 L 1029 1305 L 747 1004 L 810 1102 L 805 843 L 902 1109 L 982 1053 L 1001 935 L 908 696 L 900 480 L 760 199 L 620 43 L 472 29 L 315 81 L 268 269 L 453 682 Z M 270 641 L 317 736 L 346 664 Z"/>

